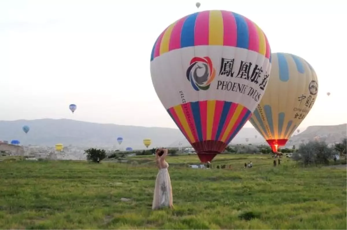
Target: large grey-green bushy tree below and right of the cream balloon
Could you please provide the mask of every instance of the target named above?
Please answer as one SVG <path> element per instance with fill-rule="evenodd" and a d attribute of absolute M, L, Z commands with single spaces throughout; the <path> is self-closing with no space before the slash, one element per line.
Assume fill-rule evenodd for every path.
<path fill-rule="evenodd" d="M 293 154 L 293 158 L 301 161 L 305 166 L 310 164 L 327 165 L 333 155 L 333 149 L 329 148 L 324 141 L 310 141 L 307 144 L 301 144 L 298 151 Z"/>

